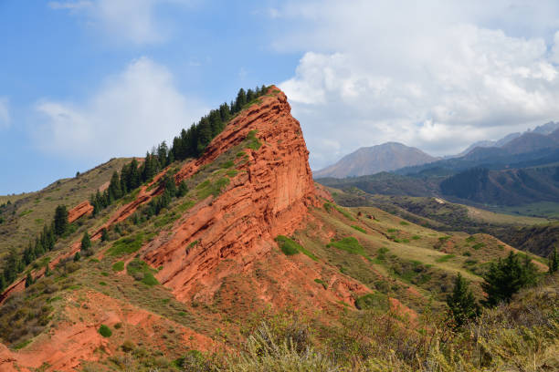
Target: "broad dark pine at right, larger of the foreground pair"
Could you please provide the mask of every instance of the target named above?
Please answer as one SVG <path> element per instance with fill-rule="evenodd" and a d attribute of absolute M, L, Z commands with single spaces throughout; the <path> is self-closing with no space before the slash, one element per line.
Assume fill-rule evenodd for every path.
<path fill-rule="evenodd" d="M 530 259 L 524 258 L 521 263 L 520 254 L 513 252 L 497 263 L 490 263 L 488 271 L 483 274 L 481 288 L 487 294 L 484 305 L 498 305 L 511 301 L 512 295 L 523 287 L 533 284 L 537 278 L 536 268 Z"/>

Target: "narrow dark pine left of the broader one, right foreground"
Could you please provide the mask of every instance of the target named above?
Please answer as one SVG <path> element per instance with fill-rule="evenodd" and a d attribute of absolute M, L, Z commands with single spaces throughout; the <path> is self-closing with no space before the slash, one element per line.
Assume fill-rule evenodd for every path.
<path fill-rule="evenodd" d="M 452 294 L 447 296 L 448 317 L 459 328 L 480 313 L 480 306 L 468 288 L 466 280 L 458 274 Z"/>

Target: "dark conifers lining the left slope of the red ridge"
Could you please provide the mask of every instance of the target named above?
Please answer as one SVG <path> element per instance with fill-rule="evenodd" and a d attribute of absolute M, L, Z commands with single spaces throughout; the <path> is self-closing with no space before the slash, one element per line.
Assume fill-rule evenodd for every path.
<path fill-rule="evenodd" d="M 139 164 L 138 160 L 133 159 L 130 163 L 122 166 L 120 173 L 114 171 L 109 187 L 103 192 L 97 191 L 90 196 L 93 215 L 96 216 L 102 209 L 118 201 L 130 191 L 137 189 L 142 183 L 151 181 L 153 176 L 163 171 L 166 166 L 175 160 L 200 156 L 211 140 L 225 129 L 230 119 L 267 92 L 268 88 L 266 86 L 257 87 L 254 90 L 240 88 L 237 98 L 232 100 L 230 104 L 224 102 L 219 106 L 219 109 L 212 109 L 197 123 L 192 124 L 189 129 L 183 129 L 179 136 L 174 137 L 171 148 L 163 141 L 156 148 L 153 147 L 151 152 L 147 151 L 142 165 Z M 76 176 L 78 177 L 79 173 Z M 163 194 L 153 198 L 142 210 L 147 218 L 159 214 L 174 197 L 184 196 L 188 191 L 184 181 L 177 188 L 174 178 L 170 175 L 163 176 L 160 184 L 164 188 Z M 7 204 L 10 204 L 10 202 L 7 202 Z M 0 209 L 4 209 L 5 206 L 6 204 L 3 204 Z M 3 291 L 7 285 L 12 284 L 17 275 L 22 273 L 29 263 L 33 263 L 37 258 L 52 251 L 58 238 L 67 233 L 68 229 L 68 211 L 64 205 L 59 205 L 55 210 L 53 222 L 44 226 L 43 231 L 38 234 L 34 242 L 29 243 L 23 253 L 17 253 L 16 250 L 11 250 L 8 253 L 4 269 L 0 273 L 0 291 Z M 106 231 L 103 231 L 103 236 L 106 236 Z M 85 233 L 82 238 L 81 248 L 82 253 L 88 253 L 90 249 L 88 233 Z M 28 286 L 32 282 L 31 274 L 27 274 L 26 285 Z"/>

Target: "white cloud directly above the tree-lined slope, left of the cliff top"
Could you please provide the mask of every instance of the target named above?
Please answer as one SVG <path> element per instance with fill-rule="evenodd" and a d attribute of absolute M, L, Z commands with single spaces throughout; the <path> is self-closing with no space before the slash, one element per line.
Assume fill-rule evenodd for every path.
<path fill-rule="evenodd" d="M 42 124 L 33 129 L 38 145 L 64 156 L 103 160 L 142 156 L 162 140 L 171 140 L 206 109 L 185 98 L 165 68 L 147 57 L 132 61 L 107 78 L 82 103 L 43 100 Z"/>

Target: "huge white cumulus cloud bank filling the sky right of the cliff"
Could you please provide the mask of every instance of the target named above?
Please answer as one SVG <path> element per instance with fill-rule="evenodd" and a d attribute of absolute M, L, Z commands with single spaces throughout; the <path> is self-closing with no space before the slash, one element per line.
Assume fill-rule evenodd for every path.
<path fill-rule="evenodd" d="M 275 10 L 290 29 L 274 47 L 304 52 L 280 87 L 313 169 L 388 140 L 443 155 L 559 119 L 553 2 L 352 4 Z"/>

